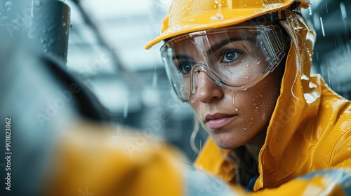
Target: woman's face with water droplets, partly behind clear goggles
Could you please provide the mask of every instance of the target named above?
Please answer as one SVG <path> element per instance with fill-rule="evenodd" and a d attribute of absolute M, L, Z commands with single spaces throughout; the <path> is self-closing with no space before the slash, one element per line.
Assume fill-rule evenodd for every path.
<path fill-rule="evenodd" d="M 232 76 L 234 83 L 244 82 L 251 76 L 262 73 L 264 70 L 262 67 L 267 67 L 267 62 L 263 60 L 265 57 L 253 41 L 232 38 L 232 42 L 218 45 L 223 39 L 227 38 L 206 37 L 206 42 L 209 44 L 208 46 L 201 45 L 201 50 L 211 50 L 211 54 L 194 52 L 199 51 L 199 42 L 192 41 L 181 45 L 176 44 L 174 50 L 177 51 L 179 57 L 192 59 L 196 63 L 211 64 L 213 63 L 211 57 L 216 54 L 218 54 L 218 59 L 231 61 L 230 72 L 223 71 L 223 75 Z M 207 58 L 204 58 L 205 53 Z M 204 59 L 207 59 L 206 62 L 203 62 Z M 213 66 L 213 64 L 208 66 Z M 240 66 L 244 68 L 238 68 Z M 241 73 L 243 70 L 244 73 Z M 190 101 L 190 106 L 217 146 L 232 149 L 246 143 L 263 143 L 265 134 L 258 133 L 266 130 L 274 111 L 282 80 L 281 70 L 282 68 L 280 71 L 277 68 L 253 87 L 237 91 L 217 85 L 204 71 L 195 73 L 196 93 Z"/>

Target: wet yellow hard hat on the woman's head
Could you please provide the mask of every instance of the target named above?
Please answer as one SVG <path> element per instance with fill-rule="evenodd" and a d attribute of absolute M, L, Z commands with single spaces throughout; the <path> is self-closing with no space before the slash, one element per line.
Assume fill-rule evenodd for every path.
<path fill-rule="evenodd" d="M 260 15 L 296 6 L 307 8 L 309 0 L 174 0 L 161 28 L 161 35 L 145 45 L 204 29 L 237 25 Z"/>

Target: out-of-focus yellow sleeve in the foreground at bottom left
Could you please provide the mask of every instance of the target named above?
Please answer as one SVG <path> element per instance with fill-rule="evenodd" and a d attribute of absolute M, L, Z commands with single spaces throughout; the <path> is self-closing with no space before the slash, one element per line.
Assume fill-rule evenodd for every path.
<path fill-rule="evenodd" d="M 142 131 L 79 124 L 58 139 L 43 195 L 183 195 L 176 148 Z"/>

